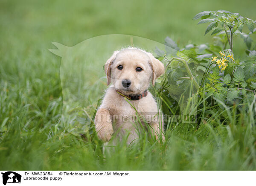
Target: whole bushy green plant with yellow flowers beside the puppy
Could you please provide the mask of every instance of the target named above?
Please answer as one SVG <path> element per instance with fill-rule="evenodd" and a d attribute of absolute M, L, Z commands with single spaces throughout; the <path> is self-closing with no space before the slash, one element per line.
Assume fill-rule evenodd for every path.
<path fill-rule="evenodd" d="M 246 25 L 250 31 L 247 37 L 250 37 L 256 22 L 224 10 L 201 12 L 194 17 L 195 20 L 199 18 L 199 24 L 209 23 L 205 34 L 213 29 L 213 39 L 218 42 L 179 48 L 167 37 L 166 52 L 158 48 L 155 50 L 159 59 L 166 63 L 166 74 L 158 85 L 164 100 L 163 111 L 168 114 L 197 114 L 197 125 L 206 119 L 205 116 L 201 118 L 205 113 L 209 113 L 206 117 L 211 118 L 212 110 L 222 110 L 221 120 L 225 121 L 227 105 L 236 104 L 236 113 L 239 114 L 247 108 L 247 103 L 253 102 L 256 92 L 256 51 L 245 49 L 247 57 L 242 61 L 237 60 L 233 53 L 234 35 L 244 35 L 242 29 Z M 253 42 L 251 38 L 244 41 L 247 47 Z M 227 43 L 229 49 L 226 49 Z M 197 100 L 193 106 L 191 99 Z M 171 102 L 175 103 L 173 108 Z M 199 112 L 195 112 L 195 107 Z"/>

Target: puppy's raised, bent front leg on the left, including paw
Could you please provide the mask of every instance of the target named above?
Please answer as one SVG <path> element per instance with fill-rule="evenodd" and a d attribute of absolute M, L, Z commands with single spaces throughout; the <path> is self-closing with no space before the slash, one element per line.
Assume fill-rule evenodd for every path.
<path fill-rule="evenodd" d="M 109 141 L 113 134 L 113 126 L 107 109 L 100 108 L 97 111 L 94 124 L 99 139 L 102 139 L 104 142 Z"/>

